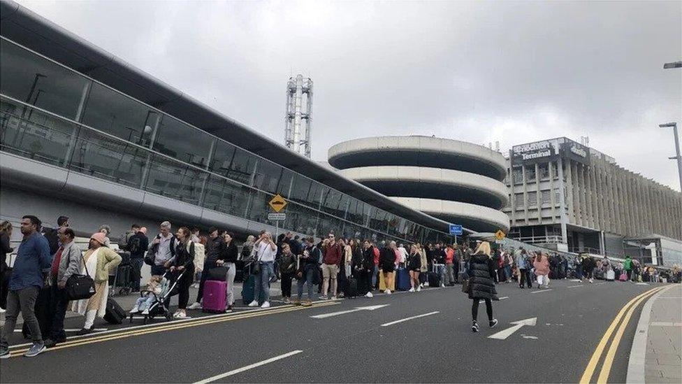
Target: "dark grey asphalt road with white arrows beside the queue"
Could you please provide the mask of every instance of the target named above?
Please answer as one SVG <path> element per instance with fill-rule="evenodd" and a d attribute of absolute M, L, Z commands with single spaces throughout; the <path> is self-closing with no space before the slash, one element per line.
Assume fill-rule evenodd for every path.
<path fill-rule="evenodd" d="M 35 358 L 2 360 L 0 382 L 575 383 L 621 308 L 655 287 L 560 280 L 549 290 L 519 290 L 503 283 L 498 293 L 507 298 L 493 303 L 498 327 L 488 329 L 481 303 L 476 334 L 460 286 L 138 324 L 70 339 Z M 364 306 L 382 307 L 353 311 Z M 640 310 L 625 327 L 610 382 L 625 381 Z M 339 311 L 349 312 L 311 317 Z M 535 326 L 488 338 L 530 318 Z"/>

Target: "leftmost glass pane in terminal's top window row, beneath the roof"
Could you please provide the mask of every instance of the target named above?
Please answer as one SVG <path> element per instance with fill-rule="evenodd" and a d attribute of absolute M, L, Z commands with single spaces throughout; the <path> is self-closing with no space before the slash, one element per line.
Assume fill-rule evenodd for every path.
<path fill-rule="evenodd" d="M 0 92 L 75 120 L 89 80 L 5 40 L 0 62 Z"/>

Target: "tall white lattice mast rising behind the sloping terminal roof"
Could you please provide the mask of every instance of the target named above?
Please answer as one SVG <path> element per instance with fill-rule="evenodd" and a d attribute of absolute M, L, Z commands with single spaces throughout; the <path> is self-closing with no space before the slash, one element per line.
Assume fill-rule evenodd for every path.
<path fill-rule="evenodd" d="M 286 148 L 310 158 L 312 80 L 298 75 L 286 84 Z"/>

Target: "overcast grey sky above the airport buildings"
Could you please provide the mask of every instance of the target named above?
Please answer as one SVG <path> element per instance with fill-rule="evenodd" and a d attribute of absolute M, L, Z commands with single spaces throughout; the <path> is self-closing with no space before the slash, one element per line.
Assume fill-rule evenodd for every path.
<path fill-rule="evenodd" d="M 679 190 L 682 2 L 126 2 L 22 5 L 263 134 L 314 81 L 312 157 L 351 138 L 512 145 L 589 136 Z M 494 145 L 494 144 L 493 144 Z"/>

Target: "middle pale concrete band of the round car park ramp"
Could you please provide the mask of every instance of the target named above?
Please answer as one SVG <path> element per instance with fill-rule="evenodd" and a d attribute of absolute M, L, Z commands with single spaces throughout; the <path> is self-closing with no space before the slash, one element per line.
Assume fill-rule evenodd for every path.
<path fill-rule="evenodd" d="M 358 183 L 367 181 L 400 181 L 412 183 L 435 183 L 443 187 L 463 187 L 491 195 L 500 201 L 500 207 L 507 204 L 509 192 L 501 181 L 477 173 L 438 169 L 426 166 L 362 166 L 339 171 L 343 176 Z"/>

